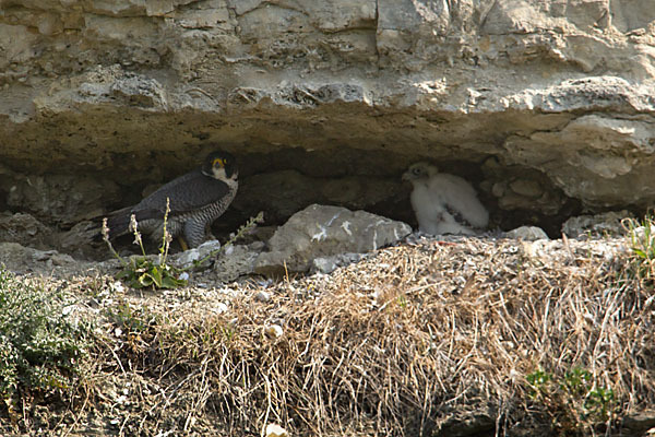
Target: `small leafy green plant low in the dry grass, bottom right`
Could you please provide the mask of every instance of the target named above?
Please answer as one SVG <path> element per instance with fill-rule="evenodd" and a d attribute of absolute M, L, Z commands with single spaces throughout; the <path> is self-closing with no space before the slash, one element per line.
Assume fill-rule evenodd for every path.
<path fill-rule="evenodd" d="M 529 397 L 545 408 L 552 426 L 562 433 L 581 433 L 611 418 L 614 391 L 598 387 L 588 370 L 573 367 L 558 378 L 537 369 L 525 379 Z"/>

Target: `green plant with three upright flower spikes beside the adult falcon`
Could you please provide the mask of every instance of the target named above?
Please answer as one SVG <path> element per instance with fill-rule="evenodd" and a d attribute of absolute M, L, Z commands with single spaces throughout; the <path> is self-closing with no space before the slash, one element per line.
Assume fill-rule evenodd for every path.
<path fill-rule="evenodd" d="M 168 214 L 170 212 L 170 199 L 166 199 L 166 212 L 164 213 L 164 224 L 162 229 L 162 245 L 159 246 L 159 256 L 154 261 L 145 255 L 143 239 L 139 232 L 139 223 L 134 214 L 130 217 L 130 231 L 134 234 L 134 244 L 141 248 L 141 256 L 131 257 L 126 261 L 111 246 L 109 241 L 109 228 L 107 218 L 103 221 L 103 239 L 109 246 L 111 253 L 122 264 L 122 270 L 116 275 L 116 279 L 124 281 L 134 288 L 177 288 L 187 284 L 187 280 L 181 276 L 182 269 L 169 265 L 166 262 L 170 241 L 172 240 L 168 233 Z"/>

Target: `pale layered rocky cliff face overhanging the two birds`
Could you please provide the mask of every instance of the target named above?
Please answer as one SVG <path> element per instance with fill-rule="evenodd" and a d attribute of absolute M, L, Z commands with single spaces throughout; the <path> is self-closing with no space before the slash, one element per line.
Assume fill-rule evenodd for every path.
<path fill-rule="evenodd" d="M 62 229 L 216 146 L 240 161 L 235 222 L 313 202 L 412 221 L 419 158 L 502 227 L 655 199 L 651 0 L 0 5 L 0 209 Z"/>

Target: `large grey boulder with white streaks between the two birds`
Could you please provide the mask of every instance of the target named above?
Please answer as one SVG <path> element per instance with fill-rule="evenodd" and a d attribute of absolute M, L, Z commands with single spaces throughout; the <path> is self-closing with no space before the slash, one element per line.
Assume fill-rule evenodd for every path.
<path fill-rule="evenodd" d="M 312 204 L 294 214 L 257 260 L 258 273 L 307 271 L 312 260 L 343 252 L 364 253 L 393 244 L 412 227 L 365 211 Z"/>

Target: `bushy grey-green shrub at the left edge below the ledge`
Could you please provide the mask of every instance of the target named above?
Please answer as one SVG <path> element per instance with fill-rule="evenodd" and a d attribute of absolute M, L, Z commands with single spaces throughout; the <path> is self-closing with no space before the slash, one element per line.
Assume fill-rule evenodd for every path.
<path fill-rule="evenodd" d="M 12 421 L 19 400 L 61 397 L 78 378 L 92 330 L 73 305 L 0 267 L 0 397 Z"/>

